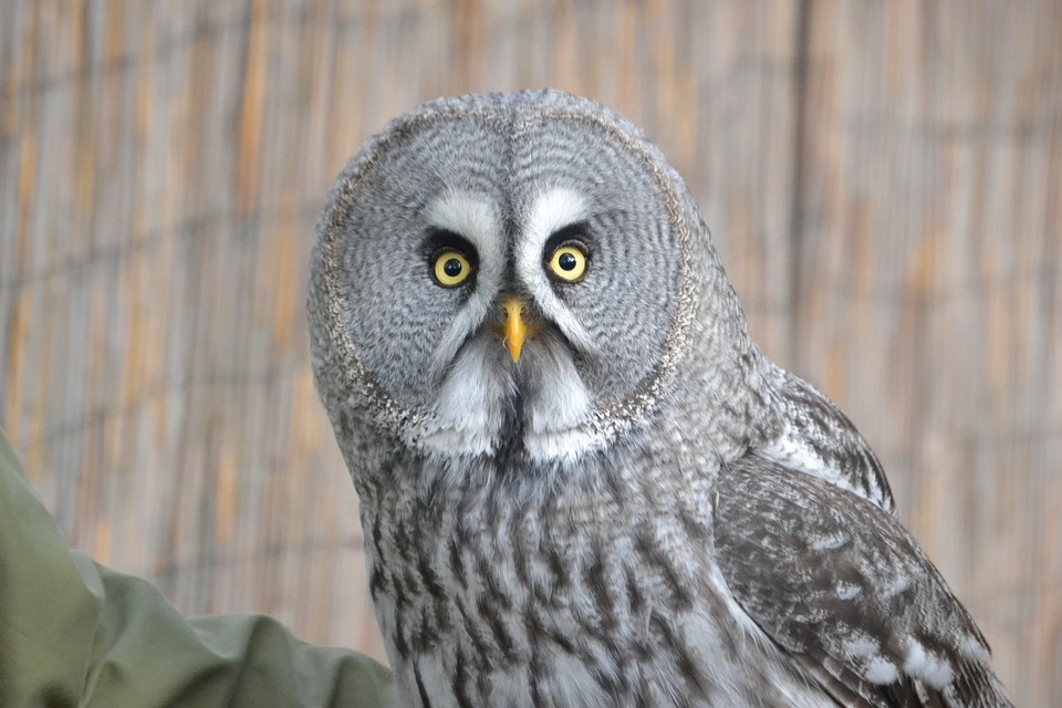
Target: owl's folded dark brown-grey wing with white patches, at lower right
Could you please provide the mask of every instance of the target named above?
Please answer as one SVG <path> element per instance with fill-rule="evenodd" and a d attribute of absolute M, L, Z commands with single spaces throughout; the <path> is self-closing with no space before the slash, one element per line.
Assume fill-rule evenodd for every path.
<path fill-rule="evenodd" d="M 747 455 L 720 470 L 718 561 L 749 617 L 842 706 L 1010 706 L 972 618 L 858 496 Z"/>

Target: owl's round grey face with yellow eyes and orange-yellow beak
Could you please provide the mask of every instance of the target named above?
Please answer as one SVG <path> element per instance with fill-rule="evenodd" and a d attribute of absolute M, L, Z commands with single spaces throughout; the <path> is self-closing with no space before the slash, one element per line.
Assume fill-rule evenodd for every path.
<path fill-rule="evenodd" d="M 398 118 L 323 217 L 319 384 L 344 378 L 428 455 L 577 459 L 644 416 L 671 356 L 688 264 L 670 178 L 618 116 L 558 96 Z"/>

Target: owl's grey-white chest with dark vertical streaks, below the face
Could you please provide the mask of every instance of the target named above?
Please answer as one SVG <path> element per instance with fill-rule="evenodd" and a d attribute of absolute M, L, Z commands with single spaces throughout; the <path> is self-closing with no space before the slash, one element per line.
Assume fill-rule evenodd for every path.
<path fill-rule="evenodd" d="M 732 690 L 753 695 L 762 677 L 735 647 L 757 643 L 712 585 L 707 504 L 613 497 L 363 507 L 377 622 L 410 705 L 666 706 L 700 695 L 690 705 L 741 706 Z"/>

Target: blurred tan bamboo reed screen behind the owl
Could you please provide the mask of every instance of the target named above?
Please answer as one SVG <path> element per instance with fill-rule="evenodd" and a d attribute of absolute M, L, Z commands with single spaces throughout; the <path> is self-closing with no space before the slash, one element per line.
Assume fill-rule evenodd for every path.
<path fill-rule="evenodd" d="M 1062 705 L 1062 6 L 0 0 L 0 425 L 70 543 L 382 656 L 303 301 L 423 100 L 643 125 L 754 335 L 881 455 L 1019 705 Z"/>

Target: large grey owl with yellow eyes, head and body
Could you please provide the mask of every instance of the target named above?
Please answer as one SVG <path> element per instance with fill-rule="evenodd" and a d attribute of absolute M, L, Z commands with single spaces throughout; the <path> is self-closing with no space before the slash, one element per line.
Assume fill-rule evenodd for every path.
<path fill-rule="evenodd" d="M 757 348 L 622 116 L 426 104 L 317 230 L 312 365 L 405 705 L 1009 705 L 874 452 Z"/>

